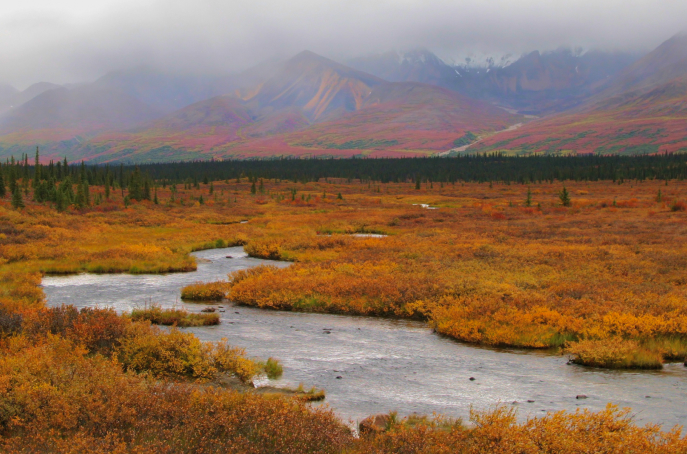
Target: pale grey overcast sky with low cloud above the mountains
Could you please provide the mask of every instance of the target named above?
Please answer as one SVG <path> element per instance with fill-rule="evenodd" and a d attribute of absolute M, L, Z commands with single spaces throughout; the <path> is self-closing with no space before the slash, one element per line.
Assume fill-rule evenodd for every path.
<path fill-rule="evenodd" d="M 0 83 L 93 80 L 141 64 L 238 71 L 309 49 L 344 60 L 426 47 L 447 60 L 582 46 L 647 51 L 687 0 L 0 0 Z"/>

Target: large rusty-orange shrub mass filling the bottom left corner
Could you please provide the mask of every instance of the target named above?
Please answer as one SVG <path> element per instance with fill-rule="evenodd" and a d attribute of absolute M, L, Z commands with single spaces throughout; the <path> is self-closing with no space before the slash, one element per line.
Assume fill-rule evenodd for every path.
<path fill-rule="evenodd" d="M 148 380 L 49 336 L 0 355 L 2 452 L 335 453 L 352 442 L 328 409 Z"/>

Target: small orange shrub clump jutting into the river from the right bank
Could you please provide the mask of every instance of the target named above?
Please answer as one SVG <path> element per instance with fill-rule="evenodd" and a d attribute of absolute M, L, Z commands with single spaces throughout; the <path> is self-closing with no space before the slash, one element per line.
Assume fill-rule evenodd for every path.
<path fill-rule="evenodd" d="M 609 369 L 660 369 L 663 358 L 660 353 L 640 347 L 633 340 L 585 339 L 569 342 L 564 352 L 575 364 L 605 367 Z"/>

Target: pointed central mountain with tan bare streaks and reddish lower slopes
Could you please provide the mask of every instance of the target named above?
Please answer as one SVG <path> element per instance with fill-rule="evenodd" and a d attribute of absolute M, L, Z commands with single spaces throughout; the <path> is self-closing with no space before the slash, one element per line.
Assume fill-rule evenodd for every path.
<path fill-rule="evenodd" d="M 192 104 L 122 133 L 102 134 L 79 158 L 154 161 L 280 155 L 433 154 L 468 131 L 519 117 L 450 90 L 391 83 L 311 52 L 240 97 Z"/>

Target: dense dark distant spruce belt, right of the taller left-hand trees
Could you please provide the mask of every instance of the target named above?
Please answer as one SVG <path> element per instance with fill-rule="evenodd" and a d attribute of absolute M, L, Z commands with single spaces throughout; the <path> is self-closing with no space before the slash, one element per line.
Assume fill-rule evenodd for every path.
<path fill-rule="evenodd" d="M 124 167 L 133 172 L 135 167 Z M 317 181 L 322 178 L 391 182 L 504 182 L 599 180 L 683 180 L 687 156 L 533 156 L 503 155 L 401 159 L 271 159 L 145 164 L 141 172 L 156 181 L 198 182 L 247 177 Z"/>

